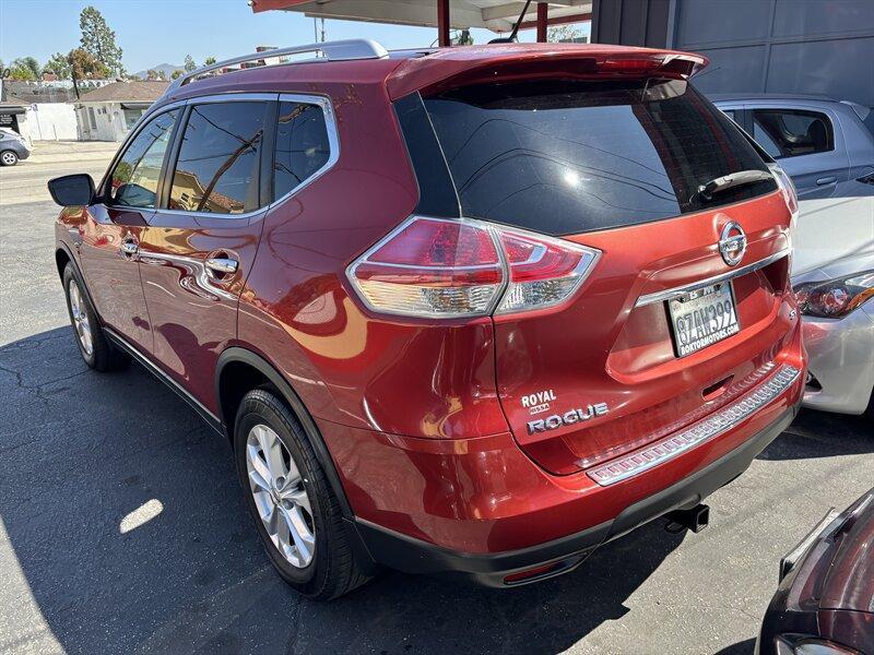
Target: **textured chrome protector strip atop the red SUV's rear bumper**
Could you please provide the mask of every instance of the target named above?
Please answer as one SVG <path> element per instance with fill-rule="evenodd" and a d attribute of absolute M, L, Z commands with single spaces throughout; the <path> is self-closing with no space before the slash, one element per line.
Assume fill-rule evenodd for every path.
<path fill-rule="evenodd" d="M 755 391 L 748 393 L 736 403 L 720 409 L 700 422 L 675 434 L 595 466 L 588 471 L 587 474 L 602 487 L 607 487 L 672 460 L 746 420 L 786 392 L 799 379 L 800 374 L 801 371 L 795 367 L 783 365 L 767 382 L 760 384 Z"/>

